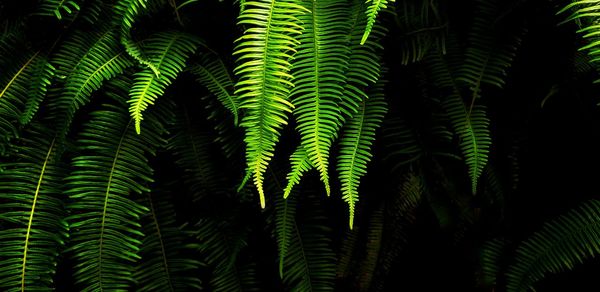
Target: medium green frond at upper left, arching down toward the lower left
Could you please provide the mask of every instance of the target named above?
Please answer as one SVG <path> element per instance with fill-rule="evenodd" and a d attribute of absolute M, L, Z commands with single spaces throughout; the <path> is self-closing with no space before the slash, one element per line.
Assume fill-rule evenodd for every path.
<path fill-rule="evenodd" d="M 117 41 L 117 33 L 109 25 L 93 31 L 76 31 L 70 35 L 51 62 L 64 84 L 50 101 L 51 118 L 59 134 L 68 132 L 77 110 L 87 104 L 90 96 L 105 81 L 121 74 L 133 65 Z"/>

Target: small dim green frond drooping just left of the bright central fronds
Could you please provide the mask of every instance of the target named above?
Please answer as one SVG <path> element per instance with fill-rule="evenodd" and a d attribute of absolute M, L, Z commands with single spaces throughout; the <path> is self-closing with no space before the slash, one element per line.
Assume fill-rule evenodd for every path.
<path fill-rule="evenodd" d="M 199 64 L 191 66 L 190 71 L 233 114 L 233 123 L 237 126 L 239 101 L 233 95 L 233 80 L 223 61 L 215 56 L 204 55 Z"/>

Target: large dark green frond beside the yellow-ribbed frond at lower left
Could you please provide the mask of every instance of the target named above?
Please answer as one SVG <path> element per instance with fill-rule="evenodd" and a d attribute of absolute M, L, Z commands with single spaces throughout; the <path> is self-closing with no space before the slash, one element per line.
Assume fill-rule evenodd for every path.
<path fill-rule="evenodd" d="M 166 141 L 166 107 L 148 113 L 137 135 L 123 99 L 131 83 L 115 80 L 109 103 L 92 112 L 77 141 L 78 155 L 67 177 L 72 215 L 69 251 L 81 291 L 126 290 L 132 283 L 141 246 L 140 217 L 148 212 L 134 195 L 149 191 L 148 156 Z M 114 87 L 114 88 L 113 88 Z"/>

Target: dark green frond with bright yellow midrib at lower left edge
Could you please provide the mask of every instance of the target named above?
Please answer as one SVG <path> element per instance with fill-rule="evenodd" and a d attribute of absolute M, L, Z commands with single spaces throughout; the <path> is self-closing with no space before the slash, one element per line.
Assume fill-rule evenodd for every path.
<path fill-rule="evenodd" d="M 0 164 L 0 289 L 51 290 L 67 237 L 64 168 L 48 129 L 34 125 L 16 141 L 14 162 Z"/>

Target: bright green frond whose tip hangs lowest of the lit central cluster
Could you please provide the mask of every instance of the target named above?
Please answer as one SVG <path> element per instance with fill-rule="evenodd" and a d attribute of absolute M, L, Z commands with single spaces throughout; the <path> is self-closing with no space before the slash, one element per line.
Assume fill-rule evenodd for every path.
<path fill-rule="evenodd" d="M 340 140 L 337 169 L 342 183 L 342 199 L 349 207 L 350 229 L 354 223 L 360 178 L 367 173 L 367 164 L 373 156 L 371 145 L 375 140 L 375 131 L 383 123 L 387 112 L 383 87 L 383 81 L 377 83 L 369 99 L 363 102 L 360 111 L 345 125 L 344 135 Z"/>

